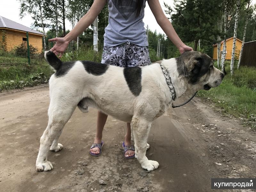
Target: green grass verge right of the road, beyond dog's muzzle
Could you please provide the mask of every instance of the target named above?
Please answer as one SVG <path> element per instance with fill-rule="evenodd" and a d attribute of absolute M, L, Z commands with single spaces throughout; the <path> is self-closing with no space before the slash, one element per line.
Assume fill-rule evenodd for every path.
<path fill-rule="evenodd" d="M 210 98 L 223 115 L 241 118 L 244 125 L 256 130 L 256 68 L 241 67 L 231 76 L 229 64 L 226 62 L 228 74 L 220 86 L 209 91 L 200 91 L 198 96 Z"/>

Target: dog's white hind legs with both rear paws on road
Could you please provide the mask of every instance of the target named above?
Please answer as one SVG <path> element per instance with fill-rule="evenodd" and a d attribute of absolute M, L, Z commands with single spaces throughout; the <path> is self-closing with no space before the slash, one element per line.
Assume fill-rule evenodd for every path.
<path fill-rule="evenodd" d="M 53 151 L 59 151 L 62 145 L 58 143 L 58 139 L 63 130 L 64 125 L 73 114 L 77 102 L 65 103 L 51 99 L 48 110 L 49 122 L 41 139 L 38 156 L 36 159 L 36 171 L 50 171 L 52 163 L 47 161 L 48 151 L 51 147 Z M 53 146 L 52 146 L 53 145 Z"/>

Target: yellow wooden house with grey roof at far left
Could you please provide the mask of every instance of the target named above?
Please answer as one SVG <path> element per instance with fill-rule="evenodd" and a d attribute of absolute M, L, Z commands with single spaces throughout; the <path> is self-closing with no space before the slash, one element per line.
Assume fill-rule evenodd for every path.
<path fill-rule="evenodd" d="M 26 32 L 28 32 L 29 45 L 36 47 L 38 53 L 42 52 L 43 33 L 0 16 L 0 45 L 4 46 L 6 51 L 10 52 L 20 44 L 27 46 Z"/>

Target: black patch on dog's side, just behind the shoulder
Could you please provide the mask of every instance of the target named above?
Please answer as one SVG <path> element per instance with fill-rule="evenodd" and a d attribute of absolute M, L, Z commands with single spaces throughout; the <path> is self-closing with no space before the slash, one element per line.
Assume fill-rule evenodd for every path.
<path fill-rule="evenodd" d="M 124 78 L 133 95 L 139 96 L 141 86 L 141 68 L 140 67 L 126 67 L 124 68 Z"/>

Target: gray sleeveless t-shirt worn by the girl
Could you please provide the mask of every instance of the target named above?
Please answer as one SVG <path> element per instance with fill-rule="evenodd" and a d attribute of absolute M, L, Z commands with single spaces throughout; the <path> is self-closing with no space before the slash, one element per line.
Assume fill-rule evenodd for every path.
<path fill-rule="evenodd" d="M 136 17 L 136 0 L 122 0 L 122 4 L 115 4 L 115 0 L 107 0 L 109 16 L 108 26 L 105 28 L 104 46 L 113 47 L 127 41 L 139 46 L 148 46 L 142 20 L 146 1 L 144 0 L 140 15 Z"/>

